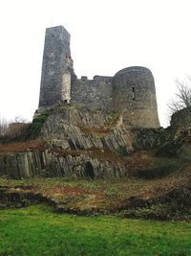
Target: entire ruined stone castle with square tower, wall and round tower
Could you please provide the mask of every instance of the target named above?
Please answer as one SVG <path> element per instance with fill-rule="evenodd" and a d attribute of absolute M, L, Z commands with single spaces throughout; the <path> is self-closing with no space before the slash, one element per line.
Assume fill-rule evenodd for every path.
<path fill-rule="evenodd" d="M 159 128 L 151 71 L 134 66 L 120 70 L 114 77 L 77 79 L 70 34 L 62 26 L 46 30 L 38 111 L 60 102 L 118 112 L 123 123 L 132 127 Z"/>

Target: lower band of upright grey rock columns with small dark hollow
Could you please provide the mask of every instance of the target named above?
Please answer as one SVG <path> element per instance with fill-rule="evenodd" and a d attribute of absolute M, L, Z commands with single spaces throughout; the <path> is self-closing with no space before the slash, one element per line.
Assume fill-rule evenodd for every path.
<path fill-rule="evenodd" d="M 50 147 L 50 146 L 49 146 Z M 61 154 L 60 154 L 61 153 Z M 68 178 L 110 178 L 127 175 L 120 161 L 103 160 L 87 153 L 24 151 L 0 155 L 0 175 L 11 178 L 60 176 Z"/>

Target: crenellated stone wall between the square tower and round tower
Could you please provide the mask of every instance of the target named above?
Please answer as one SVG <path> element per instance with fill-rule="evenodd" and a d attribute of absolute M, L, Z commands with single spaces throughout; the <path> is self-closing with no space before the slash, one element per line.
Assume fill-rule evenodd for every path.
<path fill-rule="evenodd" d="M 96 76 L 94 80 L 82 77 L 72 84 L 71 103 L 91 109 L 113 109 L 113 85 L 111 77 Z"/>

